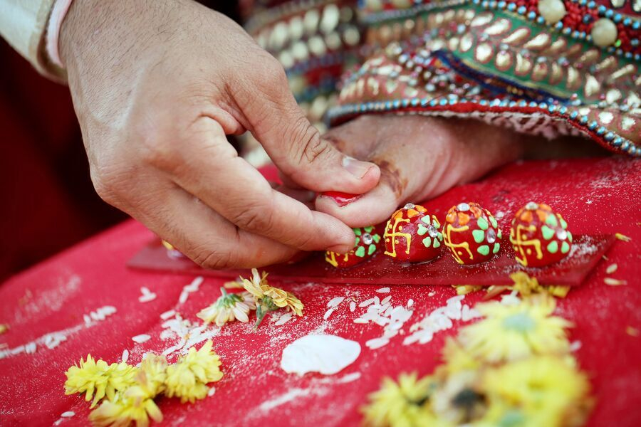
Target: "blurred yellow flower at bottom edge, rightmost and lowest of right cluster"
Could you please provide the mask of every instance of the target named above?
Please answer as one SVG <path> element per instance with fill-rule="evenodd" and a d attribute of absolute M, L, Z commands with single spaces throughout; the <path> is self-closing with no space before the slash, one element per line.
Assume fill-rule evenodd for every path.
<path fill-rule="evenodd" d="M 480 425 L 580 426 L 592 404 L 588 379 L 566 358 L 511 362 L 488 369 L 481 382 L 489 405 Z"/>

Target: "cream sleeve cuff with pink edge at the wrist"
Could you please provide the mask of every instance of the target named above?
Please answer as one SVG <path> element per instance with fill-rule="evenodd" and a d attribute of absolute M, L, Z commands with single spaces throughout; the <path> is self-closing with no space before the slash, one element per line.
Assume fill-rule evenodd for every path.
<path fill-rule="evenodd" d="M 0 0 L 0 35 L 26 58 L 39 73 L 66 80 L 62 68 L 45 53 L 45 31 L 55 0 Z"/>

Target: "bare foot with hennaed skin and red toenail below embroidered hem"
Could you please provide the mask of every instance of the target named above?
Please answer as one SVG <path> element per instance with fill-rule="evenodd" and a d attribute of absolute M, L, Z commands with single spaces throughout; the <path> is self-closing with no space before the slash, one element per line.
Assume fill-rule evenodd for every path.
<path fill-rule="evenodd" d="M 339 206 L 320 195 L 316 209 L 353 227 L 390 218 L 398 206 L 419 203 L 458 184 L 473 181 L 511 162 L 540 138 L 478 120 L 366 115 L 335 127 L 323 137 L 357 159 L 379 165 L 375 189 Z"/>

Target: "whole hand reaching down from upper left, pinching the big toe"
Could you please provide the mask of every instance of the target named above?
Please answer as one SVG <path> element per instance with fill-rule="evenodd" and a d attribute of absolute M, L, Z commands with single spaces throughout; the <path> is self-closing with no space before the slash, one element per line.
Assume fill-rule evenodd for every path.
<path fill-rule="evenodd" d="M 281 65 L 191 0 L 75 1 L 61 56 L 98 194 L 209 268 L 346 252 L 345 223 L 271 188 L 226 135 L 251 132 L 288 182 L 363 194 L 375 164 L 321 139 Z"/>

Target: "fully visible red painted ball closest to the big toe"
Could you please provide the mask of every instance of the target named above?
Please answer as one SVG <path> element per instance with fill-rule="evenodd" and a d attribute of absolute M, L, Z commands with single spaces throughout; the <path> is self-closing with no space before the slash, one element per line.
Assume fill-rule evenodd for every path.
<path fill-rule="evenodd" d="M 385 255 L 395 260 L 418 263 L 441 253 L 443 235 L 436 216 L 421 205 L 408 203 L 394 214 L 385 226 Z"/>

